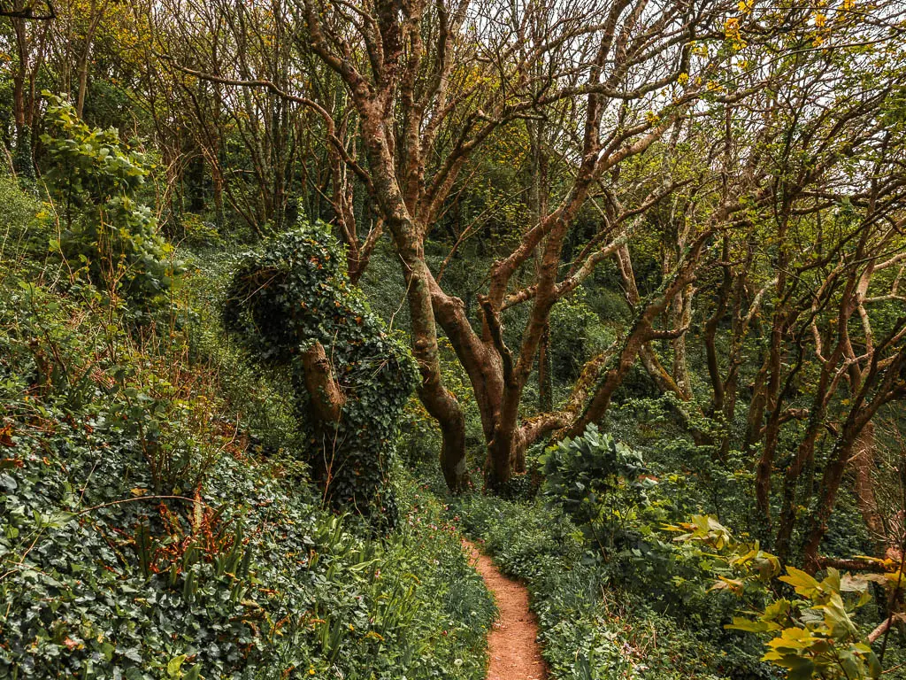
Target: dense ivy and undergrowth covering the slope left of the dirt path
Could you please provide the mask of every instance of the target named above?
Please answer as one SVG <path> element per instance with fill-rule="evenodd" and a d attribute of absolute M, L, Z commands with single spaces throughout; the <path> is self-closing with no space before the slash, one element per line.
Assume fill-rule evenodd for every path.
<path fill-rule="evenodd" d="M 382 537 L 323 510 L 292 395 L 210 310 L 130 326 L 46 267 L 0 267 L 0 677 L 484 676 L 436 501 L 397 476 Z"/>

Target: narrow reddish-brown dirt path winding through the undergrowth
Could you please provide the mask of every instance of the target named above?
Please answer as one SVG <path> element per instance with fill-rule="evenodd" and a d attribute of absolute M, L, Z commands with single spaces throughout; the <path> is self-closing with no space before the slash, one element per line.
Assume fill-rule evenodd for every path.
<path fill-rule="evenodd" d="M 506 578 L 494 562 L 463 540 L 472 562 L 487 589 L 494 593 L 500 617 L 487 637 L 487 680 L 545 680 L 547 666 L 535 638 L 538 624 L 528 608 L 528 591 L 518 581 Z"/>

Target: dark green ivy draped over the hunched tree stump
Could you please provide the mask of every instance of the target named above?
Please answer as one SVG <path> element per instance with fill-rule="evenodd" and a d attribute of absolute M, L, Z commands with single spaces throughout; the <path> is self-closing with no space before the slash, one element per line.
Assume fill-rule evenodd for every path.
<path fill-rule="evenodd" d="M 300 355 L 323 345 L 344 401 L 336 423 L 321 423 L 310 460 L 325 496 L 338 507 L 369 509 L 392 524 L 387 478 L 416 368 L 407 347 L 384 331 L 350 285 L 330 229 L 303 223 L 246 254 L 233 278 L 226 319 L 265 363 L 290 367 L 300 393 Z"/>

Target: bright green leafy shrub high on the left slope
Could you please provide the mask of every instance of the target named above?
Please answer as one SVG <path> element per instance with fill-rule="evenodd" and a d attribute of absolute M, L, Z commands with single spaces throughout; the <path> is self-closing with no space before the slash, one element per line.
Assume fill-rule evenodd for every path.
<path fill-rule="evenodd" d="M 72 104 L 44 92 L 48 129 L 41 137 L 45 179 L 62 214 L 59 248 L 92 283 L 144 304 L 173 285 L 172 248 L 137 193 L 149 176 L 144 154 L 129 150 L 114 129 L 92 129 Z"/>

